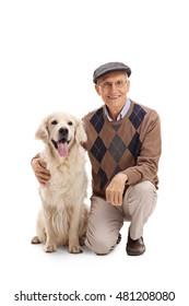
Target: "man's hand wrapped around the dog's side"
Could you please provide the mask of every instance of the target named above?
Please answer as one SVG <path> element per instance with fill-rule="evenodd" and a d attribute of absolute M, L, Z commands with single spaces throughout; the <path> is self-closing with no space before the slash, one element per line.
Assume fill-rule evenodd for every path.
<path fill-rule="evenodd" d="M 50 173 L 46 168 L 46 163 L 40 157 L 36 157 L 32 161 L 32 167 L 37 180 L 40 184 L 46 185 L 47 181 L 50 179 Z"/>

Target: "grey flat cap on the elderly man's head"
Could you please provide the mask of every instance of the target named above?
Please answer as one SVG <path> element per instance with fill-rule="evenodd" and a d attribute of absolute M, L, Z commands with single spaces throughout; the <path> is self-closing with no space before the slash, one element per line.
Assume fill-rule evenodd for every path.
<path fill-rule="evenodd" d="M 97 79 L 105 75 L 106 73 L 113 72 L 113 71 L 126 71 L 128 76 L 131 75 L 131 69 L 126 66 L 122 62 L 107 62 L 105 64 L 99 66 L 93 73 L 93 82 L 96 84 Z"/>

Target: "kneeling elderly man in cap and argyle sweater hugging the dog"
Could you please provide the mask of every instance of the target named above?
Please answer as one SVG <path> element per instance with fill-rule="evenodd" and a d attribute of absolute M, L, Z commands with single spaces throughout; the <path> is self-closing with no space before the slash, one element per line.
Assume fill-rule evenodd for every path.
<path fill-rule="evenodd" d="M 98 67 L 93 81 L 104 105 L 83 118 L 93 179 L 85 244 L 97 255 L 115 248 L 125 221 L 130 222 L 127 254 L 142 255 L 143 226 L 156 204 L 160 117 L 128 97 L 130 74 L 131 69 L 122 62 Z M 36 157 L 32 165 L 45 184 L 50 177 L 45 163 Z"/>

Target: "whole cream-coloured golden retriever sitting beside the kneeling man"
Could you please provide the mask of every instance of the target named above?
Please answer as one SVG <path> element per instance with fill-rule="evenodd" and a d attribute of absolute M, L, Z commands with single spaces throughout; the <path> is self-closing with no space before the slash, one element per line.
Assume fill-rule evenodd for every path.
<path fill-rule="evenodd" d="M 55 113 L 43 120 L 36 138 L 45 142 L 40 155 L 51 177 L 39 186 L 43 209 L 32 243 L 45 244 L 47 252 L 60 245 L 69 245 L 70 252 L 81 252 L 88 216 L 83 122 L 70 114 Z"/>

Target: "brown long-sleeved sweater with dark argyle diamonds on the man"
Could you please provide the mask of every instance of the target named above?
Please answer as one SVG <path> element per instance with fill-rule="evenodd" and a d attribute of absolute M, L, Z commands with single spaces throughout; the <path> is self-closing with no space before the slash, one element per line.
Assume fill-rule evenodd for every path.
<path fill-rule="evenodd" d="M 157 187 L 161 129 L 155 110 L 131 101 L 127 115 L 118 121 L 107 119 L 105 106 L 87 114 L 83 121 L 93 195 L 105 197 L 107 185 L 120 172 L 128 176 L 127 186 L 150 180 Z"/>

